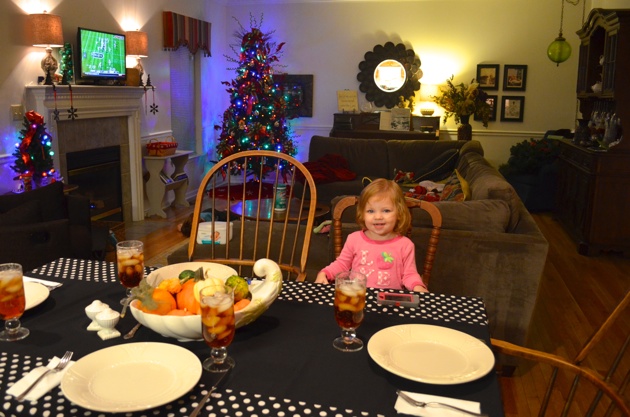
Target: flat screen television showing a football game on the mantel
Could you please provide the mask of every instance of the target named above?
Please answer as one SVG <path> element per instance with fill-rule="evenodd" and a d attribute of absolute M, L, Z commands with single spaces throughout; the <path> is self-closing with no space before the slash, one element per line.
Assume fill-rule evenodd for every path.
<path fill-rule="evenodd" d="M 80 27 L 77 44 L 79 83 L 118 84 L 126 80 L 125 35 Z"/>

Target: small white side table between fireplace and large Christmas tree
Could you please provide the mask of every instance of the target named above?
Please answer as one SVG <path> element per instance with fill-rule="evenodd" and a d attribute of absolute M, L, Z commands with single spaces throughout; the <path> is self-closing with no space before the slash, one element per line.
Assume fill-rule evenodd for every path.
<path fill-rule="evenodd" d="M 176 151 L 173 155 L 167 156 L 144 156 L 144 163 L 149 171 L 149 180 L 146 182 L 147 197 L 149 198 L 149 210 L 147 217 L 157 214 L 166 218 L 166 212 L 162 209 L 162 200 L 167 191 L 175 191 L 175 201 L 173 204 L 188 207 L 190 204 L 186 200 L 188 190 L 188 176 L 184 168 L 188 163 L 188 155 L 193 151 Z M 173 174 L 168 176 L 164 172 L 164 164 L 170 160 L 175 167 Z"/>

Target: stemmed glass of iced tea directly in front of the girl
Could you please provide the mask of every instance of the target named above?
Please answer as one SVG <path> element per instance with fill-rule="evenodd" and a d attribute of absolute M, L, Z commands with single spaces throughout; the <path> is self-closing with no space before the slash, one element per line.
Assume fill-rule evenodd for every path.
<path fill-rule="evenodd" d="M 333 340 L 333 346 L 341 351 L 363 349 L 363 341 L 357 337 L 356 329 L 363 323 L 366 281 L 366 276 L 356 271 L 335 276 L 335 319 L 341 327 L 341 336 Z"/>

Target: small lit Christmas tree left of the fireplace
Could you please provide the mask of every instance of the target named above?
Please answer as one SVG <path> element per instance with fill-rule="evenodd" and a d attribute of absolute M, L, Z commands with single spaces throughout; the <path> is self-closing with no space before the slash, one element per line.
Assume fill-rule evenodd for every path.
<path fill-rule="evenodd" d="M 20 141 L 15 144 L 13 152 L 15 165 L 11 165 L 11 169 L 19 174 L 16 179 L 39 181 L 52 176 L 55 172 L 52 137 L 46 131 L 44 118 L 34 111 L 29 111 L 24 116 L 23 125 Z"/>

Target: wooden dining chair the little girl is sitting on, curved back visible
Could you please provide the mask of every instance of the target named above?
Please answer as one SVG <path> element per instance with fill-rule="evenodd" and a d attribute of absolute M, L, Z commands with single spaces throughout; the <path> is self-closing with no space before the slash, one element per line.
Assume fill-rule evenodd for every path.
<path fill-rule="evenodd" d="M 435 253 L 437 251 L 437 245 L 440 238 L 440 231 L 442 230 L 442 214 L 435 204 L 428 201 L 416 200 L 413 198 L 405 198 L 407 207 L 410 210 L 420 209 L 426 211 L 431 216 L 431 234 L 429 236 L 429 243 L 422 262 L 422 281 L 429 287 L 429 280 L 431 279 L 431 271 L 433 271 L 433 262 L 435 260 Z M 356 206 L 359 203 L 358 196 L 346 196 L 337 200 L 333 209 L 333 247 L 335 251 L 335 258 L 339 257 L 341 249 L 343 247 L 343 235 L 342 235 L 342 216 L 343 212 L 352 206 Z M 407 231 L 408 235 L 411 235 L 411 228 Z M 417 260 L 416 260 L 417 262 Z"/>

